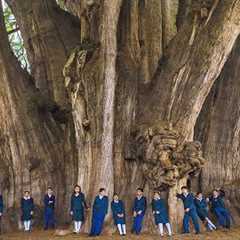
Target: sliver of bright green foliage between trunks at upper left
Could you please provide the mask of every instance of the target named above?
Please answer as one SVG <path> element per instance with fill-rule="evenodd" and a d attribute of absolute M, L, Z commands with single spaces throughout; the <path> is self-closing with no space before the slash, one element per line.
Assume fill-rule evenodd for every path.
<path fill-rule="evenodd" d="M 13 15 L 10 7 L 2 0 L 3 2 L 3 13 L 4 13 L 4 21 L 5 26 L 8 32 L 8 38 L 10 46 L 21 63 L 22 68 L 26 68 L 30 71 L 30 65 L 27 59 L 26 49 L 23 44 L 23 39 L 21 36 L 21 32 L 17 25 L 17 21 L 15 16 Z"/>

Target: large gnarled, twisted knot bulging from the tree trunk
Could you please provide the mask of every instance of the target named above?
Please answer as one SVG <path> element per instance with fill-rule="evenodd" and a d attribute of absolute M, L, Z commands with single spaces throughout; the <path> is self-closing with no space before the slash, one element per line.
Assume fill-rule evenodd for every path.
<path fill-rule="evenodd" d="M 171 125 L 138 128 L 132 133 L 125 159 L 139 162 L 151 188 L 173 187 L 180 179 L 199 173 L 205 163 L 201 143 L 182 139 Z"/>

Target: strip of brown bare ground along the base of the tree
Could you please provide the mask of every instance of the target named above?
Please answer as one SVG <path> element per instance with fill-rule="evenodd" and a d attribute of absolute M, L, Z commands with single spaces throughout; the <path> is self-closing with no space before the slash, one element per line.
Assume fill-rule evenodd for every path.
<path fill-rule="evenodd" d="M 232 228 L 231 230 L 218 230 L 212 233 L 202 233 L 200 235 L 187 234 L 180 235 L 176 234 L 171 238 L 165 236 L 160 237 L 159 235 L 148 235 L 142 234 L 140 236 L 134 236 L 129 234 L 126 237 L 120 237 L 118 235 L 107 236 L 103 235 L 97 238 L 88 237 L 85 234 L 74 235 L 69 234 L 66 236 L 55 236 L 53 231 L 33 231 L 31 233 L 8 233 L 0 236 L 0 240 L 75 240 L 75 239 L 97 239 L 97 240 L 156 240 L 156 239 L 172 239 L 172 240 L 240 240 L 240 227 Z"/>

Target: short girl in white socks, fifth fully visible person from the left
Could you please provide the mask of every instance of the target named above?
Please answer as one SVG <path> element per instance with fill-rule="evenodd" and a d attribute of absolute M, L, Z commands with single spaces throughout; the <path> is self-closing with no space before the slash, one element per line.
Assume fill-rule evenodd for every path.
<path fill-rule="evenodd" d="M 114 223 L 118 228 L 119 234 L 121 236 L 125 236 L 126 235 L 125 207 L 123 201 L 119 200 L 119 197 L 116 193 L 113 195 L 111 209 Z"/>

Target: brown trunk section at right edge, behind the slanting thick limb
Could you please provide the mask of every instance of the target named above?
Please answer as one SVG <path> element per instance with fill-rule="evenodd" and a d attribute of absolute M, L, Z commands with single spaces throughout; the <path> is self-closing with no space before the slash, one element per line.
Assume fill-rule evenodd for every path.
<path fill-rule="evenodd" d="M 202 170 L 199 187 L 206 192 L 218 187 L 225 189 L 234 218 L 238 220 L 239 53 L 240 39 L 238 38 L 229 60 L 204 104 L 195 127 L 195 138 L 203 143 L 204 156 L 211 159 Z"/>

